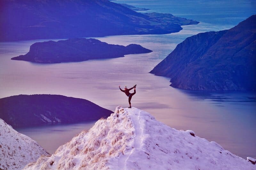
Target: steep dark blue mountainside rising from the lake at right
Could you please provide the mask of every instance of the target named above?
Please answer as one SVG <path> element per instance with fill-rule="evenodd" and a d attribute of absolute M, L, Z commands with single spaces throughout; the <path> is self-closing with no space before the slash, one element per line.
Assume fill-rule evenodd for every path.
<path fill-rule="evenodd" d="M 150 71 L 189 90 L 256 90 L 256 15 L 237 26 L 188 37 Z"/>

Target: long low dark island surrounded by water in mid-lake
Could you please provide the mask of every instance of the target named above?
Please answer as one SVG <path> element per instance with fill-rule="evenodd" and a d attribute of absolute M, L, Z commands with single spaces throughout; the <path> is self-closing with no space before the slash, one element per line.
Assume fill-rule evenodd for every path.
<path fill-rule="evenodd" d="M 61 41 L 37 42 L 26 55 L 13 57 L 36 63 L 78 62 L 89 59 L 124 57 L 127 54 L 150 53 L 151 50 L 137 44 L 112 45 L 96 39 L 74 38 Z"/>

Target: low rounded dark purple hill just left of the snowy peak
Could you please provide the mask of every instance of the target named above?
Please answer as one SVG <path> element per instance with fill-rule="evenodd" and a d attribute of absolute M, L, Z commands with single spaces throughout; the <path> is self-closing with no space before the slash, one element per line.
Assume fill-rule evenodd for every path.
<path fill-rule="evenodd" d="M 98 120 L 111 113 L 89 100 L 61 95 L 18 95 L 0 99 L 0 118 L 13 127 Z"/>

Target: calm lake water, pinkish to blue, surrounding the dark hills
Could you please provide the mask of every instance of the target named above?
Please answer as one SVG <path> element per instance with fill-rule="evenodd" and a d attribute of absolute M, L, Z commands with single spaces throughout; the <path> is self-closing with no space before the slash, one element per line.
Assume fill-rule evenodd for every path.
<path fill-rule="evenodd" d="M 121 1 L 150 12 L 168 12 L 195 19 L 198 25 L 183 26 L 179 33 L 165 35 L 122 35 L 96 37 L 110 44 L 140 44 L 152 53 L 125 55 L 107 60 L 77 63 L 37 64 L 10 60 L 26 54 L 33 41 L 0 42 L 0 98 L 18 94 L 61 94 L 90 100 L 115 110 L 128 107 L 118 85 L 137 84 L 132 106 L 145 110 L 157 120 L 176 129 L 193 130 L 196 135 L 216 141 L 243 158 L 256 157 L 256 94 L 252 92 L 195 92 L 170 87 L 169 78 L 148 72 L 188 36 L 229 29 L 256 13 L 250 1 Z M 163 5 L 164 4 L 164 5 Z M 234 12 L 236 11 L 236 12 Z M 94 122 L 17 129 L 53 153 Z"/>

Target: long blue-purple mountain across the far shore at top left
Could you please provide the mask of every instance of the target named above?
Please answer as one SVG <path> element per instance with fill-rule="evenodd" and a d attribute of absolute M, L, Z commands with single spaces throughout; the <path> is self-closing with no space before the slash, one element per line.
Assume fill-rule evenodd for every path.
<path fill-rule="evenodd" d="M 0 6 L 0 41 L 165 34 L 199 23 L 148 16 L 108 0 L 2 0 Z"/>

